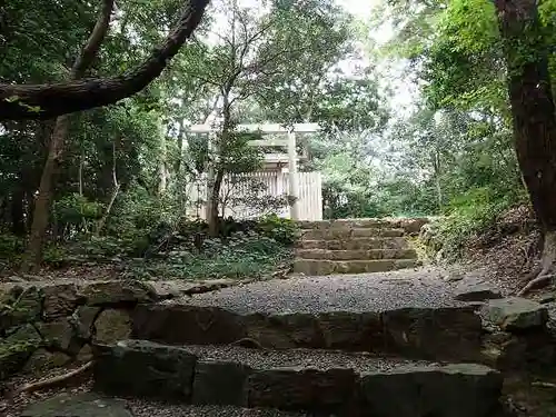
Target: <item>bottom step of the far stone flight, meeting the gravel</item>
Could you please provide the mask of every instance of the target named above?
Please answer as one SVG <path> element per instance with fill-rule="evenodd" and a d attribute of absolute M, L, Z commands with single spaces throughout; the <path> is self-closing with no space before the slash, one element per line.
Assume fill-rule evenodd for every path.
<path fill-rule="evenodd" d="M 334 274 L 371 274 L 386 272 L 405 268 L 415 268 L 420 265 L 417 259 L 374 259 L 374 260 L 325 260 L 325 259 L 295 259 L 294 272 L 308 276 L 324 276 Z"/>

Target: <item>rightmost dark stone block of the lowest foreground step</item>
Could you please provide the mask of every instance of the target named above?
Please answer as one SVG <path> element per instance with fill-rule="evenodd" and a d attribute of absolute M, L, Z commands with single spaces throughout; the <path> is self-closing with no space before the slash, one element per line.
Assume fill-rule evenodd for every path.
<path fill-rule="evenodd" d="M 481 365 L 405 367 L 361 377 L 367 414 L 376 417 L 490 417 L 503 377 Z"/>

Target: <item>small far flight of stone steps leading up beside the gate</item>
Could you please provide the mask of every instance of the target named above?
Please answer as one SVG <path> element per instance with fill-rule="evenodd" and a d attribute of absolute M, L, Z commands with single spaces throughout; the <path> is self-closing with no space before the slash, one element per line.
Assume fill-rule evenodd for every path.
<path fill-rule="evenodd" d="M 426 219 L 301 221 L 294 272 L 308 276 L 384 272 L 419 265 L 407 240 Z"/>

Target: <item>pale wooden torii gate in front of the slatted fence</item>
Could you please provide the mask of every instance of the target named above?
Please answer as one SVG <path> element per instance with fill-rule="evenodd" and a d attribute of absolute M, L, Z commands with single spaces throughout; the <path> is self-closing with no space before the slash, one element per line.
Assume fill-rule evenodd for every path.
<path fill-rule="evenodd" d="M 315 133 L 319 131 L 317 123 L 294 123 L 291 126 L 284 126 L 278 123 L 262 123 L 262 125 L 238 125 L 236 126 L 238 132 L 260 132 L 267 135 L 286 135 L 286 139 L 268 139 L 268 140 L 251 140 L 250 146 L 259 147 L 287 147 L 288 148 L 288 173 L 289 173 L 289 195 L 295 197 L 295 202 L 290 207 L 290 218 L 299 220 L 299 177 L 297 170 L 297 150 L 296 150 L 296 135 L 297 133 Z M 192 125 L 189 128 L 192 133 L 215 133 L 219 129 L 211 125 Z"/>

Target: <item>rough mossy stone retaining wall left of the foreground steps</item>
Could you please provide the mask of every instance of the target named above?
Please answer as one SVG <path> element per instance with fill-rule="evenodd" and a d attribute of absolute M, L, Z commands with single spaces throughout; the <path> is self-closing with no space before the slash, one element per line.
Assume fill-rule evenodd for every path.
<path fill-rule="evenodd" d="M 131 331 L 132 309 L 235 284 L 214 281 L 63 280 L 0 285 L 0 380 L 91 358 L 92 344 Z"/>

